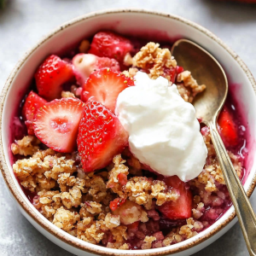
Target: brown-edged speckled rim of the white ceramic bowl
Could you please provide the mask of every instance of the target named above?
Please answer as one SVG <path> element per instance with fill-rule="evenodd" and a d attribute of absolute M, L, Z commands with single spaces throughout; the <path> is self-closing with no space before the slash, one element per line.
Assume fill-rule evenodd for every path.
<path fill-rule="evenodd" d="M 26 60 L 29 58 L 29 56 L 36 50 L 38 47 L 40 47 L 41 44 L 44 44 L 45 41 L 52 38 L 57 34 L 58 32 L 61 32 L 63 29 L 66 29 L 69 26 L 73 26 L 76 23 L 79 23 L 83 20 L 88 20 L 90 18 L 101 16 L 101 15 L 115 15 L 115 14 L 121 14 L 121 13 L 138 13 L 138 14 L 145 14 L 145 15 L 156 15 L 161 16 L 165 18 L 169 18 L 172 20 L 180 21 L 187 26 L 191 26 L 195 28 L 196 30 L 204 33 L 207 35 L 208 38 L 211 38 L 213 41 L 215 41 L 217 44 L 222 46 L 232 57 L 233 59 L 239 64 L 239 66 L 242 68 L 244 73 L 247 76 L 247 79 L 249 80 L 250 84 L 253 87 L 254 93 L 256 93 L 256 81 L 253 78 L 253 74 L 250 72 L 246 64 L 241 61 L 241 58 L 232 50 L 229 46 L 224 44 L 224 42 L 215 36 L 212 32 L 208 31 L 205 27 L 196 24 L 193 21 L 184 19 L 183 17 L 180 17 L 178 15 L 172 15 L 167 14 L 163 12 L 153 11 L 153 10 L 147 10 L 147 9 L 103 9 L 96 12 L 91 12 L 86 15 L 80 15 L 79 17 L 69 20 L 66 23 L 63 23 L 61 26 L 57 26 L 53 31 L 49 32 L 46 36 L 41 38 L 41 40 L 38 41 L 35 46 L 33 46 L 31 49 L 26 51 L 25 55 L 20 58 L 20 61 L 17 62 L 14 69 L 9 75 L 9 78 L 7 79 L 6 83 L 3 86 L 3 90 L 1 93 L 1 103 L 0 103 L 0 168 L 3 175 L 3 179 L 5 183 L 7 184 L 9 191 L 14 196 L 15 200 L 19 203 L 20 207 L 28 214 L 37 224 L 41 226 L 44 230 L 49 232 L 51 235 L 55 236 L 55 238 L 66 242 L 68 245 L 72 247 L 76 247 L 84 252 L 88 253 L 94 253 L 99 255 L 133 255 L 133 256 L 154 256 L 154 255 L 167 255 L 172 253 L 179 253 L 184 250 L 189 249 L 190 247 L 195 247 L 196 245 L 199 245 L 201 242 L 206 241 L 208 238 L 212 237 L 218 231 L 224 229 L 224 227 L 227 224 L 230 224 L 230 222 L 236 217 L 236 212 L 234 207 L 231 207 L 229 210 L 230 215 L 224 219 L 224 221 L 220 221 L 220 223 L 210 232 L 206 232 L 203 236 L 197 237 L 197 239 L 190 238 L 186 241 L 183 241 L 180 246 L 179 243 L 173 246 L 164 247 L 165 249 L 157 252 L 156 249 L 148 249 L 148 250 L 134 250 L 133 253 L 128 253 L 125 250 L 118 250 L 118 249 L 111 249 L 108 251 L 108 248 L 96 246 L 91 247 L 91 244 L 89 242 L 84 242 L 79 240 L 78 238 L 69 235 L 67 232 L 60 230 L 59 228 L 55 227 L 53 224 L 51 224 L 46 218 L 44 218 L 41 213 L 38 212 L 34 207 L 32 207 L 32 204 L 29 204 L 27 200 L 24 200 L 25 194 L 21 195 L 19 189 L 16 188 L 15 182 L 13 180 L 13 177 L 11 175 L 11 172 L 7 166 L 7 161 L 4 156 L 3 151 L 3 138 L 2 138 L 2 122 L 3 122 L 3 106 L 5 102 L 5 98 L 8 94 L 9 88 L 11 87 L 13 80 L 15 79 L 16 74 L 20 71 L 20 68 L 22 65 L 26 62 Z M 252 171 L 251 171 L 252 172 Z M 255 170 L 254 170 L 255 172 Z M 250 182 L 248 189 L 247 189 L 247 196 L 250 197 L 253 193 L 253 189 L 256 185 L 256 172 L 254 173 L 254 176 L 252 177 L 252 181 Z M 227 214 L 228 212 L 226 212 Z M 222 219 L 222 218 L 220 218 Z M 107 251 L 106 251 L 107 249 Z M 131 252 L 131 251 L 130 251 Z"/>

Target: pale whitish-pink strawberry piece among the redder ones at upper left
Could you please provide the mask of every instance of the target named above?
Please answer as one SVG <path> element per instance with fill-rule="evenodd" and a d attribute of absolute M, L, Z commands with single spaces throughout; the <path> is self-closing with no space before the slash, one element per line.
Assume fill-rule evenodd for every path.
<path fill-rule="evenodd" d="M 103 67 L 109 67 L 113 71 L 120 71 L 118 61 L 90 54 L 75 55 L 73 57 L 73 66 L 76 79 L 81 86 L 84 85 L 91 73 Z"/>

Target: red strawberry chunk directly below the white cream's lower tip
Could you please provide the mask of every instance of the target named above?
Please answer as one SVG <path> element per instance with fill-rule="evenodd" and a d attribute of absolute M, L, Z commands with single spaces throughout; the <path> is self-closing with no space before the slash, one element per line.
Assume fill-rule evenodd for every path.
<path fill-rule="evenodd" d="M 165 177 L 167 186 L 177 189 L 180 196 L 177 201 L 167 201 L 158 209 L 166 218 L 190 218 L 192 216 L 192 193 L 177 176 Z"/>

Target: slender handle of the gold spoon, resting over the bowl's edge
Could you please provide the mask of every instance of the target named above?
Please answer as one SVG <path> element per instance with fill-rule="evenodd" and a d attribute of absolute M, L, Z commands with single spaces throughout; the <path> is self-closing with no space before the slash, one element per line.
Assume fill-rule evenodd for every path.
<path fill-rule="evenodd" d="M 248 252 L 251 256 L 256 255 L 256 218 L 253 208 L 242 187 L 241 181 L 232 165 L 229 154 L 218 134 L 216 119 L 209 123 L 212 143 L 216 150 L 219 166 L 224 174 L 224 180 L 230 192 L 230 197 L 236 209 L 236 215 L 241 225 Z"/>

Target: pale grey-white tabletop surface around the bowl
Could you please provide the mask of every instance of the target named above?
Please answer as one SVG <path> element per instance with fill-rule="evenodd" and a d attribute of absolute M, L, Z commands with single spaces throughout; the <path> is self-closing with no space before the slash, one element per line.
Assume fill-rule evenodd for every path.
<path fill-rule="evenodd" d="M 212 1 L 213 2 L 213 1 Z M 0 11 L 0 83 L 26 49 L 50 29 L 77 15 L 97 9 L 137 7 L 183 15 L 215 32 L 241 56 L 256 75 L 256 8 L 202 0 L 172 1 L 79 1 L 79 0 L 9 0 Z M 147 3 L 147 4 L 145 4 Z M 147 6 L 145 6 L 147 5 Z M 10 201 L 3 178 L 0 179 L 0 248 L 1 255 L 72 255 L 40 235 Z M 253 197 L 255 198 L 255 196 Z M 253 200 L 256 204 L 256 198 Z M 195 255 L 248 255 L 238 224 L 226 235 Z"/>

